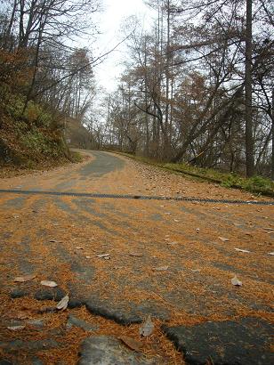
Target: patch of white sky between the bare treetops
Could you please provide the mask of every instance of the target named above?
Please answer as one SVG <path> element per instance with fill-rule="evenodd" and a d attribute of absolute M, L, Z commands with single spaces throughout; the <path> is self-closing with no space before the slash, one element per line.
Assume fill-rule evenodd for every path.
<path fill-rule="evenodd" d="M 102 34 L 93 51 L 95 57 L 108 52 L 125 37 L 125 33 L 120 30 L 123 20 L 137 15 L 145 25 L 151 19 L 151 11 L 142 0 L 102 0 L 102 6 L 103 11 L 99 15 L 99 29 Z M 116 51 L 109 54 L 106 61 L 94 69 L 98 85 L 106 88 L 108 92 L 113 91 L 117 85 L 125 55 L 125 45 L 119 45 Z"/>

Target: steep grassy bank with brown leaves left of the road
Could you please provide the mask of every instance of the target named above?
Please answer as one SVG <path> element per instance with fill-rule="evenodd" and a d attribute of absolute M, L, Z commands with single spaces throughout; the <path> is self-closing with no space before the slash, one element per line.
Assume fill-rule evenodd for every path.
<path fill-rule="evenodd" d="M 0 112 L 1 169 L 43 169 L 79 158 L 70 153 L 61 116 L 6 91 Z"/>

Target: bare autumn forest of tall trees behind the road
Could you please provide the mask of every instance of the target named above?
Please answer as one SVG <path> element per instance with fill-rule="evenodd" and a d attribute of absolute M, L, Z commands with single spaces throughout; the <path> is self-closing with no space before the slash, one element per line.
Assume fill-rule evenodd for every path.
<path fill-rule="evenodd" d="M 99 93 L 92 50 L 69 39 L 94 31 L 93 20 L 78 20 L 100 4 L 5 0 L 1 113 L 20 119 L 22 138 L 30 125 L 61 129 L 73 118 L 93 149 L 273 180 L 271 0 L 145 3 L 155 14 L 152 27 L 143 29 L 137 17 L 126 22 L 124 72 L 116 91 Z"/>

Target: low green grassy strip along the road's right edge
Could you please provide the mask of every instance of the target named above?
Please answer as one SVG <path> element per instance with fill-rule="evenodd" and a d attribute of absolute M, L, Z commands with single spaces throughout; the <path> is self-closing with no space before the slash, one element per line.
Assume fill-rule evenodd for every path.
<path fill-rule="evenodd" d="M 121 153 L 121 152 L 115 152 Z M 239 174 L 228 174 L 210 168 L 201 168 L 187 164 L 159 163 L 150 158 L 143 158 L 131 155 L 129 153 L 121 153 L 122 155 L 133 158 L 142 163 L 164 168 L 167 171 L 183 174 L 187 177 L 198 181 L 206 181 L 218 183 L 226 188 L 240 189 L 252 192 L 255 195 L 265 195 L 274 198 L 274 183 L 270 179 L 262 176 L 254 176 L 246 178 Z"/>

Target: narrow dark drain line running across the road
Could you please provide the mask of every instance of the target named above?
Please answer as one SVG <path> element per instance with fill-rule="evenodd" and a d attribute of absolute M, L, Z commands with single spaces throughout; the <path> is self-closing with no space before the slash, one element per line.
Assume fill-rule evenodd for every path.
<path fill-rule="evenodd" d="M 256 205 L 256 206 L 274 206 L 274 200 L 232 200 L 232 199 L 200 199 L 191 197 L 160 197 L 146 195 L 129 195 L 129 194 L 99 194 L 85 192 L 67 192 L 67 191 L 20 191 L 10 189 L 0 189 L 0 194 L 20 194 L 20 195 L 49 195 L 59 197 L 84 197 L 96 199 L 141 199 L 141 200 L 175 200 L 175 201 L 190 201 L 197 203 L 223 203 L 223 204 L 241 204 L 241 205 Z"/>

